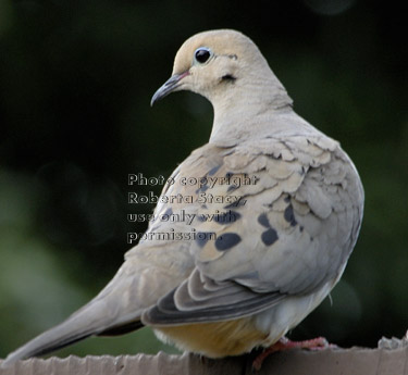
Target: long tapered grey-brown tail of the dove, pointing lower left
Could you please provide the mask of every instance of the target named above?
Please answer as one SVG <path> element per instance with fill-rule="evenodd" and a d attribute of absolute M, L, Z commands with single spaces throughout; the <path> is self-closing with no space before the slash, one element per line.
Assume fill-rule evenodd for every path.
<path fill-rule="evenodd" d="M 113 279 L 97 297 L 73 313 L 65 322 L 9 354 L 2 366 L 29 357 L 49 353 L 89 336 L 121 335 L 140 328 L 143 312 L 186 277 L 185 270 L 183 270 L 184 273 L 163 271 L 165 267 L 160 262 L 166 264 L 169 258 L 161 254 L 166 251 L 164 247 L 156 251 L 147 247 L 138 249 L 137 253 L 131 253 Z M 151 253 L 154 254 L 154 267 L 149 263 L 151 260 L 148 255 Z M 188 262 L 190 261 L 188 250 L 185 253 L 177 252 L 178 258 L 182 255 L 186 257 Z M 146 272 L 146 270 L 149 271 Z M 143 288 L 140 285 L 151 286 L 151 288 Z"/>

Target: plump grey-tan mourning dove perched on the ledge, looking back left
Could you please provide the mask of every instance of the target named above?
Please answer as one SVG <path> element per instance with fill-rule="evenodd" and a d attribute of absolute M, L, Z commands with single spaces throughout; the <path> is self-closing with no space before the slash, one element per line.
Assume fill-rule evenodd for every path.
<path fill-rule="evenodd" d="M 213 105 L 210 140 L 173 172 L 114 278 L 7 364 L 144 325 L 210 358 L 277 342 L 341 278 L 363 189 L 339 143 L 297 115 L 257 46 L 211 30 L 187 39 L 151 103 L 189 90 Z M 164 215 L 190 215 L 163 220 Z"/>

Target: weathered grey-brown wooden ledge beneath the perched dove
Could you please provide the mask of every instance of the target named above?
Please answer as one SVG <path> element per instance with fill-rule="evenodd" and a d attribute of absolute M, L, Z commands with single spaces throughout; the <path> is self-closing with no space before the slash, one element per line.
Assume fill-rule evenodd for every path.
<path fill-rule="evenodd" d="M 194 354 L 69 357 L 20 361 L 1 375 L 254 375 L 254 355 L 209 360 Z M 269 357 L 258 375 L 408 375 L 408 347 L 292 350 Z"/>

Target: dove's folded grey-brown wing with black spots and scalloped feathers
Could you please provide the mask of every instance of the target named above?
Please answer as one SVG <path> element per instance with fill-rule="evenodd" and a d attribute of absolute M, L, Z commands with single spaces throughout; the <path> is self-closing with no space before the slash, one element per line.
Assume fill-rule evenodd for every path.
<path fill-rule="evenodd" d="M 358 174 L 337 142 L 320 135 L 270 138 L 227 149 L 207 145 L 191 157 L 166 193 L 194 196 L 172 212 L 197 214 L 195 268 L 144 313 L 144 323 L 240 317 L 337 280 L 363 201 Z M 207 184 L 181 186 L 201 177 Z"/>

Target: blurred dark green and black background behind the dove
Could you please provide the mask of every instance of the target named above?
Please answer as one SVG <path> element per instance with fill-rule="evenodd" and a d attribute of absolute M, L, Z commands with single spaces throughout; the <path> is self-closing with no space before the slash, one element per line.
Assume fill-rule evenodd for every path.
<path fill-rule="evenodd" d="M 405 21 L 404 21 L 405 22 Z M 252 38 L 295 110 L 338 139 L 366 188 L 360 239 L 338 286 L 296 328 L 374 347 L 407 326 L 406 26 L 393 2 L 0 0 L 0 357 L 66 317 L 129 248 L 127 174 L 169 176 L 207 142 L 211 105 L 149 101 L 195 33 Z M 404 45 L 403 45 L 404 42 Z M 59 352 L 154 352 L 147 328 Z M 170 350 L 165 348 L 165 350 Z"/>

